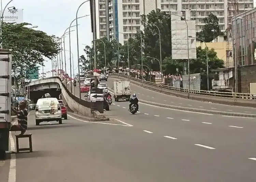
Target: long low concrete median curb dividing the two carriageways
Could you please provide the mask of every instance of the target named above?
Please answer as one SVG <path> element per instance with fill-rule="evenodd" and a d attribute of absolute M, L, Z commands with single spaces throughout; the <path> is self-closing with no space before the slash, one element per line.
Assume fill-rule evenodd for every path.
<path fill-rule="evenodd" d="M 218 114 L 218 115 L 225 115 L 225 116 L 237 116 L 237 117 L 253 117 L 256 118 L 256 114 L 245 114 L 245 113 L 236 113 L 236 112 L 225 112 L 225 111 L 215 111 L 215 110 L 208 110 L 208 109 L 197 109 L 197 108 L 189 108 L 189 107 L 181 107 L 181 106 L 173 106 L 167 104 L 160 104 L 154 103 L 150 101 L 139 100 L 139 103 L 148 104 L 163 108 L 169 109 L 176 109 L 181 111 L 190 111 L 190 112 L 199 112 L 199 113 L 207 113 L 207 114 Z"/>

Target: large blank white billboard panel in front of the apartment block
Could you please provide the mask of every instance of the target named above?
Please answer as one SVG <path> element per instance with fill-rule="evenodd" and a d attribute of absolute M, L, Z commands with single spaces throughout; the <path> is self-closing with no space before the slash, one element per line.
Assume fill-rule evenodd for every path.
<path fill-rule="evenodd" d="M 186 20 L 188 36 L 196 37 L 196 21 Z M 172 59 L 196 59 L 196 40 L 187 37 L 187 25 L 184 20 L 172 21 Z M 187 48 L 188 39 L 188 48 Z M 189 50 L 189 51 L 187 51 Z M 188 53 L 189 55 L 188 55 Z"/>

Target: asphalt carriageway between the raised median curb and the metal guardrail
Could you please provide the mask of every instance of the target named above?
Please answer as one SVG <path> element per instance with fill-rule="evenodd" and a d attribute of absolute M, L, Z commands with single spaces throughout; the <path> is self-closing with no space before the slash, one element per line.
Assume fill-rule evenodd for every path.
<path fill-rule="evenodd" d="M 107 82 L 108 87 L 113 88 L 113 80 L 115 79 L 109 78 Z M 239 112 L 239 113 L 248 113 L 248 114 L 256 113 L 256 108 L 229 106 L 229 105 L 223 105 L 223 104 L 214 104 L 214 103 L 195 101 L 195 100 L 190 100 L 186 98 L 175 97 L 172 95 L 159 93 L 153 90 L 139 87 L 134 84 L 131 84 L 131 92 L 136 93 L 138 98 L 141 100 L 160 103 L 160 104 L 215 110 L 215 111 L 225 111 L 225 112 Z"/>

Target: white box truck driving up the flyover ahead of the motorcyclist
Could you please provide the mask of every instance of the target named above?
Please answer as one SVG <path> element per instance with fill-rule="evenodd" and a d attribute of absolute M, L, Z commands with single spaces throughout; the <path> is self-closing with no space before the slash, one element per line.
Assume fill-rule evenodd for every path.
<path fill-rule="evenodd" d="M 131 97 L 130 80 L 114 80 L 114 98 L 118 102 L 119 99 L 129 101 Z"/>

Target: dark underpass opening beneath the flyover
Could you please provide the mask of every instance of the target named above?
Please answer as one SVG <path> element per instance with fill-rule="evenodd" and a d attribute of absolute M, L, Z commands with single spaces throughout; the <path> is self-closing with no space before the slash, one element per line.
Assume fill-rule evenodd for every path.
<path fill-rule="evenodd" d="M 59 99 L 60 94 L 61 94 L 60 89 L 33 90 L 33 91 L 30 91 L 30 100 L 33 103 L 37 103 L 39 98 L 55 97 Z"/>

